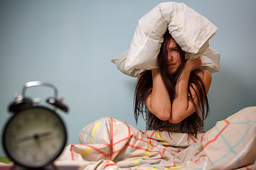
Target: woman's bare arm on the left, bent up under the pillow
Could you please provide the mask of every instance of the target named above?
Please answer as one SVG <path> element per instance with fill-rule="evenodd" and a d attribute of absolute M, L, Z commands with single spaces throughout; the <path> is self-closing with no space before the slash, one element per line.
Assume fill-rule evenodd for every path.
<path fill-rule="evenodd" d="M 153 86 L 151 94 L 146 98 L 149 111 L 160 120 L 169 120 L 171 116 L 171 101 L 161 78 L 159 69 L 152 69 Z"/>

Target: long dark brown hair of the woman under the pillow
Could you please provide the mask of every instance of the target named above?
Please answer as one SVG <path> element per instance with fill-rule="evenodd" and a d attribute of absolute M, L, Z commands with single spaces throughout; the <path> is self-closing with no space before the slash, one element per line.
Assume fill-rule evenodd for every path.
<path fill-rule="evenodd" d="M 161 74 L 161 77 L 169 93 L 171 103 L 173 103 L 174 91 L 175 91 L 174 87 L 178 82 L 179 76 L 181 75 L 181 71 L 183 69 L 184 63 L 186 62 L 186 59 L 185 59 L 185 52 L 181 50 L 181 47 L 177 44 L 178 52 L 181 56 L 181 67 L 178 69 L 178 71 L 175 74 L 169 74 L 168 67 L 167 67 L 168 52 L 166 50 L 166 46 L 170 38 L 172 37 L 169 31 L 166 30 L 166 33 L 164 34 L 164 42 L 161 45 L 161 49 L 157 57 L 157 64 L 159 67 L 159 72 Z M 198 89 L 198 94 L 196 93 L 196 96 L 199 101 L 198 102 L 199 107 L 196 108 L 195 113 L 191 114 L 186 119 L 181 121 L 181 130 L 184 126 L 186 126 L 186 128 L 188 128 L 188 134 L 191 134 L 193 136 L 196 136 L 198 130 L 203 128 L 203 120 L 206 118 L 209 111 L 208 98 L 207 98 L 205 85 L 202 79 L 198 76 L 198 72 L 201 72 L 201 70 L 193 70 L 193 72 L 191 72 L 191 75 L 188 81 L 188 100 L 192 101 L 193 106 L 196 108 L 196 104 L 191 94 L 191 89 L 196 92 L 196 90 L 193 88 L 193 84 L 194 84 Z M 140 78 L 137 82 L 137 86 L 134 92 L 134 118 L 136 122 L 139 118 L 139 115 L 142 115 L 142 117 L 145 118 L 144 117 L 145 101 L 146 101 L 146 98 L 149 96 L 149 94 L 151 94 L 152 86 L 153 86 L 153 82 L 152 82 L 151 70 L 146 70 L 142 72 L 142 74 L 140 74 Z M 203 118 L 201 118 L 201 116 L 199 115 L 199 111 L 202 113 Z M 161 128 L 167 128 L 169 130 L 169 121 L 160 120 L 154 114 L 149 112 L 147 127 L 154 130 L 161 129 Z"/>

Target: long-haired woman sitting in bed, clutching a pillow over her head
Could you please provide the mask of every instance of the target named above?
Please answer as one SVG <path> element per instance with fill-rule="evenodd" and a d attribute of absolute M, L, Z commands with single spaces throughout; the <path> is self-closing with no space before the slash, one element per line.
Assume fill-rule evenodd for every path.
<path fill-rule="evenodd" d="M 168 30 L 157 62 L 159 68 L 139 75 L 134 95 L 135 119 L 144 113 L 146 104 L 149 130 L 168 128 L 195 136 L 203 132 L 203 119 L 209 110 L 210 72 L 196 69 L 202 64 L 200 57 L 185 60 L 185 52 Z"/>

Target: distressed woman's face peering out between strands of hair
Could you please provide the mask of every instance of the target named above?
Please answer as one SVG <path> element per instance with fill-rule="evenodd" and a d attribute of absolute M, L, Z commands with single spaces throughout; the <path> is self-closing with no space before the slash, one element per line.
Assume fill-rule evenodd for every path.
<path fill-rule="evenodd" d="M 167 66 L 169 69 L 169 74 L 174 74 L 177 72 L 178 68 L 181 67 L 181 56 L 178 52 L 178 45 L 173 38 L 170 38 L 167 46 Z"/>

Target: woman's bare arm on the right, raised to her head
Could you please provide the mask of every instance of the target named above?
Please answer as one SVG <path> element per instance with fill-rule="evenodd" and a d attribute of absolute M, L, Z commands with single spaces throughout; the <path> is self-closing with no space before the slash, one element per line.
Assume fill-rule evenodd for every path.
<path fill-rule="evenodd" d="M 191 94 L 193 96 L 193 100 L 196 104 L 196 108 L 193 105 L 193 102 L 188 100 L 188 80 L 190 77 L 190 73 L 201 65 L 200 57 L 188 60 L 183 68 L 183 72 L 178 79 L 178 82 L 175 86 L 175 96 L 174 102 L 172 103 L 171 108 L 171 117 L 169 121 L 171 123 L 179 123 L 189 115 L 196 111 L 196 108 L 199 106 L 199 99 L 196 96 L 198 94 L 198 89 L 196 86 L 193 86 L 195 91 L 191 89 Z M 211 74 L 206 69 L 203 69 L 202 72 L 198 72 L 198 76 L 201 77 L 203 83 L 205 84 L 206 93 L 210 89 L 211 84 Z"/>

